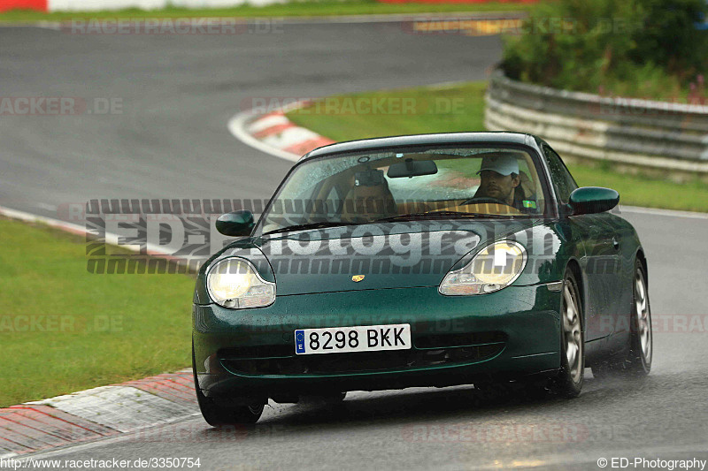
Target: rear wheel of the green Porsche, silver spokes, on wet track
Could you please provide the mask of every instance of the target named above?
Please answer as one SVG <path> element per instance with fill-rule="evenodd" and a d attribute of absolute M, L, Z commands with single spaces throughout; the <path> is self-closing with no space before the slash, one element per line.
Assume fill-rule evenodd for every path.
<path fill-rule="evenodd" d="M 654 350 L 651 332 L 651 309 L 649 285 L 642 262 L 635 261 L 635 276 L 632 278 L 632 310 L 629 320 L 629 340 L 620 360 L 604 361 L 592 368 L 593 376 L 644 377 L 651 371 Z"/>

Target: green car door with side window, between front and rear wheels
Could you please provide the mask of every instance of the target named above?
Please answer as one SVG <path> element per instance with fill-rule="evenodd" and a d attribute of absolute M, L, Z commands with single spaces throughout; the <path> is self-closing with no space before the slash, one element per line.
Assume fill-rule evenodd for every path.
<path fill-rule="evenodd" d="M 565 163 L 550 146 L 543 146 L 559 207 L 565 206 L 578 187 Z M 620 279 L 620 233 L 609 212 L 568 217 L 573 239 L 579 239 L 584 254 L 583 271 L 585 338 L 587 341 L 612 334 L 617 323 L 619 297 L 614 296 Z"/>

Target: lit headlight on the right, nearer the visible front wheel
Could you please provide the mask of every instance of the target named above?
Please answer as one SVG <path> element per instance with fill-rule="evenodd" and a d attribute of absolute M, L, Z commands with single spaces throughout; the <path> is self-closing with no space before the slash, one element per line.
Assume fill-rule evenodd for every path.
<path fill-rule="evenodd" d="M 526 262 L 524 246 L 512 240 L 501 240 L 483 248 L 461 269 L 448 272 L 438 291 L 446 296 L 499 291 L 519 277 Z"/>

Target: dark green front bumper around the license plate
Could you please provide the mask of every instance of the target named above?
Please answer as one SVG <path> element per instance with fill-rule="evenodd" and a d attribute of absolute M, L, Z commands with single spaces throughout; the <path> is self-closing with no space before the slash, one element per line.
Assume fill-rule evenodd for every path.
<path fill-rule="evenodd" d="M 436 287 L 325 292 L 243 310 L 196 304 L 196 374 L 208 397 L 264 399 L 552 373 L 559 306 L 546 285 L 458 297 Z M 295 354 L 297 329 L 389 323 L 411 324 L 412 350 Z"/>

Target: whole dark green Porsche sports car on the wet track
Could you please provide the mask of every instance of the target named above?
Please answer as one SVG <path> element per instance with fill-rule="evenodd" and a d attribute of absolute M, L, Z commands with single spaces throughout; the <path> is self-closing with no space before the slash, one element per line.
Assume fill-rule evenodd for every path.
<path fill-rule="evenodd" d="M 199 271 L 196 396 L 214 426 L 269 399 L 514 382 L 572 398 L 644 376 L 647 261 L 620 195 L 522 133 L 351 141 L 303 156 Z M 526 386 L 527 385 L 527 386 Z"/>

